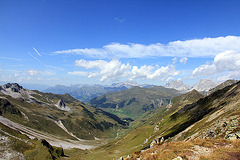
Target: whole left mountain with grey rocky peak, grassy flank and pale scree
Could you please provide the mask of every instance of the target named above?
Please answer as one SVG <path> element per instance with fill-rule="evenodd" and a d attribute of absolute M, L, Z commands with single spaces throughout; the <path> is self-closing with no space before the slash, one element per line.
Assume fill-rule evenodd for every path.
<path fill-rule="evenodd" d="M 119 117 L 88 106 L 69 94 L 42 93 L 17 83 L 0 87 L 0 115 L 0 123 L 11 124 L 12 129 L 29 137 L 44 137 L 51 144 L 77 148 L 84 146 L 80 139 L 114 137 L 117 128 L 127 125 Z"/>

